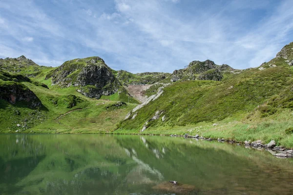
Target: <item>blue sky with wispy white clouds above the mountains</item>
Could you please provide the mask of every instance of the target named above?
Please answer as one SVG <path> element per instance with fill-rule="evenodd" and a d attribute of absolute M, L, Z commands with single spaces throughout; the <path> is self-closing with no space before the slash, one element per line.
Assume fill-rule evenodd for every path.
<path fill-rule="evenodd" d="M 40 65 L 99 56 L 115 70 L 192 60 L 244 69 L 293 41 L 293 0 L 1 0 L 0 58 Z"/>

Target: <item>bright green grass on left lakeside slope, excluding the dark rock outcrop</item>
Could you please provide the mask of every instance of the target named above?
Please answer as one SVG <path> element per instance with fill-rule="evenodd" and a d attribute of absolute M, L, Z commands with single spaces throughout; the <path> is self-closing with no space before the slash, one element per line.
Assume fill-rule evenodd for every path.
<path fill-rule="evenodd" d="M 35 111 L 26 107 L 14 106 L 1 100 L 1 132 L 8 133 L 16 130 L 21 130 L 20 133 L 30 131 L 34 133 L 105 132 L 113 130 L 115 124 L 136 106 L 136 104 L 129 103 L 125 107 L 107 110 L 105 107 L 112 105 L 116 100 L 86 98 L 72 87 L 46 89 L 29 82 L 22 82 L 22 84 L 28 86 L 41 99 L 47 111 Z M 59 117 L 70 111 L 73 112 Z M 111 120 L 106 120 L 106 118 L 111 118 Z M 24 122 L 25 120 L 27 121 Z M 17 124 L 25 126 L 18 127 Z"/>

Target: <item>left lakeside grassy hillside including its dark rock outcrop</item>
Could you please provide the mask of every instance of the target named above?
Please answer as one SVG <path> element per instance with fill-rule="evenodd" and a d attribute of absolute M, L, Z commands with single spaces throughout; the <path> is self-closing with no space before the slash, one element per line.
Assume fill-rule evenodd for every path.
<path fill-rule="evenodd" d="M 74 87 L 62 89 L 49 80 L 45 82 L 48 86 L 37 81 L 44 81 L 44 77 L 27 78 L 0 70 L 0 132 L 106 132 L 113 130 L 137 103 L 129 98 L 126 106 L 108 109 L 117 101 L 128 102 L 126 91 L 99 100 L 86 98 Z M 39 104 L 32 106 L 36 102 Z"/>

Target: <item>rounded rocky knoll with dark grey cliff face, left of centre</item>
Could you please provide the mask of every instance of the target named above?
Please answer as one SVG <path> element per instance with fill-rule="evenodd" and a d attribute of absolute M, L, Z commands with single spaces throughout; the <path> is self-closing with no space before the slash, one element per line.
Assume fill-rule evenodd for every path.
<path fill-rule="evenodd" d="M 63 88 L 75 86 L 77 91 L 89 98 L 101 98 L 116 93 L 121 83 L 99 57 L 74 59 L 64 62 L 52 74 L 52 85 Z"/>

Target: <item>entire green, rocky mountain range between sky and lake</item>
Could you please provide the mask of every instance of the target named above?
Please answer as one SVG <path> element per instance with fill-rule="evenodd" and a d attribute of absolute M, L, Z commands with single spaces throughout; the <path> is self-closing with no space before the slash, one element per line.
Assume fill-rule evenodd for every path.
<path fill-rule="evenodd" d="M 188 133 L 293 147 L 292 75 L 293 43 L 256 68 L 206 60 L 172 74 L 116 71 L 99 57 L 54 68 L 0 59 L 1 132 Z"/>

